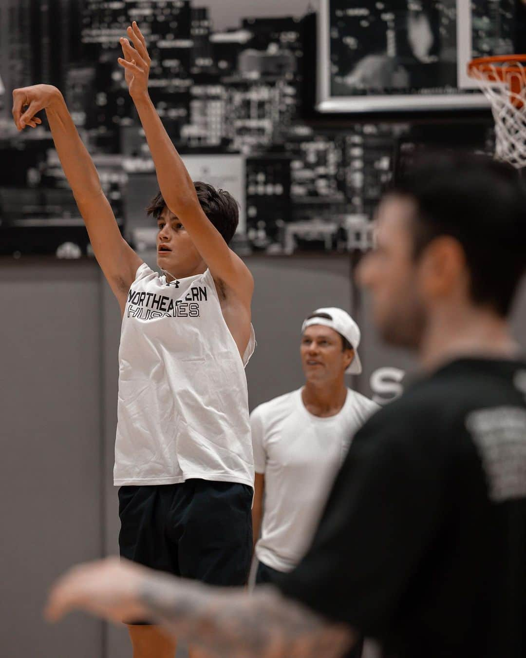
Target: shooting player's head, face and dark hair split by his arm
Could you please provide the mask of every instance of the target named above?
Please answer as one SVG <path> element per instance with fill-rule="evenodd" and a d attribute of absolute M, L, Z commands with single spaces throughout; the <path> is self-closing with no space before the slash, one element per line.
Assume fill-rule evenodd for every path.
<path fill-rule="evenodd" d="M 216 190 L 200 181 L 194 182 L 194 186 L 204 214 L 228 244 L 239 222 L 237 202 L 225 190 Z M 182 220 L 168 209 L 160 192 L 153 197 L 146 211 L 157 221 L 158 266 L 172 276 L 181 278 L 203 268 L 203 259 Z"/>

